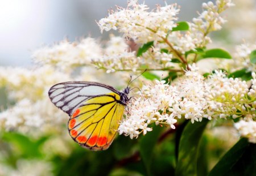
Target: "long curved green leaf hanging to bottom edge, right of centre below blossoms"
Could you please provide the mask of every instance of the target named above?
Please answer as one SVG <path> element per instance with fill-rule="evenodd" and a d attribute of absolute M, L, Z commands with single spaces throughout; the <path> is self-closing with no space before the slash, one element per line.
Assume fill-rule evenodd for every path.
<path fill-rule="evenodd" d="M 200 139 L 207 126 L 208 120 L 201 122 L 189 122 L 185 126 L 179 143 L 179 153 L 175 175 L 197 175 L 197 157 L 200 147 Z"/>

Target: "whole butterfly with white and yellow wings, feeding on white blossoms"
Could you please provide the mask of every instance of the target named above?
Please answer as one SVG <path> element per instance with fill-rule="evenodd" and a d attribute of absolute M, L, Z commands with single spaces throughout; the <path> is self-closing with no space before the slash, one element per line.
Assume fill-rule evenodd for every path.
<path fill-rule="evenodd" d="M 81 147 L 101 151 L 108 149 L 115 138 L 130 100 L 128 85 L 121 92 L 102 83 L 69 81 L 53 85 L 48 95 L 57 108 L 69 115 L 72 139 Z"/>

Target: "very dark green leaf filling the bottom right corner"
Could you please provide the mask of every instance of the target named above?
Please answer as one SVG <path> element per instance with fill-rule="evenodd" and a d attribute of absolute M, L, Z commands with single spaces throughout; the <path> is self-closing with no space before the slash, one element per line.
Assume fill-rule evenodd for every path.
<path fill-rule="evenodd" d="M 256 175 L 256 144 L 240 139 L 214 166 L 213 175 Z"/>

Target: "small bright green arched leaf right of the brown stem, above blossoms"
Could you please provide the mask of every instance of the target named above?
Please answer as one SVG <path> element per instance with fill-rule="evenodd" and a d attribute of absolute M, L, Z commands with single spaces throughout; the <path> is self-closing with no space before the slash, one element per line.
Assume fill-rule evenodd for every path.
<path fill-rule="evenodd" d="M 202 55 L 202 58 L 222 58 L 222 59 L 231 59 L 232 56 L 228 51 L 223 49 L 209 49 L 205 51 L 205 54 Z"/>

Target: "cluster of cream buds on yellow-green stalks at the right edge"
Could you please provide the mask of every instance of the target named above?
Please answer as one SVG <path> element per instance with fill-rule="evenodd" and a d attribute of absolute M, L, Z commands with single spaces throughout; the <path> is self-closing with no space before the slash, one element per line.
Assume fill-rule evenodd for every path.
<path fill-rule="evenodd" d="M 255 74 L 253 73 L 253 75 Z M 255 116 L 256 102 L 254 103 L 254 101 L 256 97 L 255 94 L 249 93 L 246 81 L 224 76 L 222 72 L 217 72 L 210 78 L 207 98 L 214 100 L 214 103 L 210 104 L 209 108 L 220 113 L 220 117 L 232 115 L 233 118 L 237 118 L 246 114 Z M 254 81 L 255 77 L 253 78 Z M 250 92 L 254 92 L 254 87 L 251 87 Z"/>

